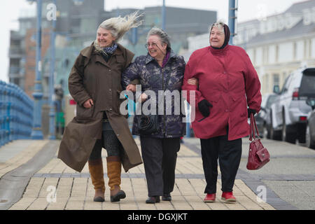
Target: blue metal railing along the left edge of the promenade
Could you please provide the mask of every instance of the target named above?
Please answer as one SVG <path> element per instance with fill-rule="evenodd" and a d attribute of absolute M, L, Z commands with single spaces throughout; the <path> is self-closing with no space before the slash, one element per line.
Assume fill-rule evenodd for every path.
<path fill-rule="evenodd" d="M 0 80 L 0 147 L 17 139 L 30 139 L 34 102 L 13 83 Z"/>

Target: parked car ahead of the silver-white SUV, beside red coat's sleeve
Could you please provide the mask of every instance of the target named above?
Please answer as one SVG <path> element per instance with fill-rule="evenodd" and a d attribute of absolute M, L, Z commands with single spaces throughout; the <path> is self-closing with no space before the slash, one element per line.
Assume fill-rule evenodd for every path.
<path fill-rule="evenodd" d="M 260 112 L 255 114 L 256 125 L 258 132 L 262 138 L 270 138 L 268 130 L 270 129 L 270 117 L 267 116 L 270 113 L 270 106 L 274 102 L 276 94 L 268 93 L 262 96 L 260 105 Z"/>

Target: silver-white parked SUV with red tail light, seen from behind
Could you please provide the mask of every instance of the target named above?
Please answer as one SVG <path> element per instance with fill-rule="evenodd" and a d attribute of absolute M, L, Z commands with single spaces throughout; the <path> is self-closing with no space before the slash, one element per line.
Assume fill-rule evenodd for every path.
<path fill-rule="evenodd" d="M 298 69 L 286 78 L 281 92 L 277 94 L 270 109 L 270 137 L 295 143 L 305 142 L 307 115 L 311 107 L 306 104 L 307 97 L 315 97 L 315 68 Z"/>

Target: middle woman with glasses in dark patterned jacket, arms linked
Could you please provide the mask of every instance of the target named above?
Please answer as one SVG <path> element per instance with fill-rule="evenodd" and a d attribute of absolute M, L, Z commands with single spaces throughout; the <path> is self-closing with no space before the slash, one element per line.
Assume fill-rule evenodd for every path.
<path fill-rule="evenodd" d="M 152 90 L 159 96 L 159 90 L 169 90 L 164 99 L 171 92 L 181 94 L 185 61 L 183 57 L 174 53 L 169 36 L 160 28 L 153 28 L 148 32 L 146 48 L 147 55 L 137 57 L 123 73 L 123 85 L 127 90 L 135 90 L 132 80 L 139 79 L 142 92 Z M 151 101 L 144 92 L 139 97 L 140 102 Z M 152 101 L 151 101 L 152 102 Z M 159 107 L 160 96 L 155 99 Z M 167 106 L 172 114 L 167 114 Z M 161 106 L 161 104 L 160 104 Z M 182 122 L 183 113 L 175 114 L 174 109 L 181 109 L 180 104 L 170 100 L 161 106 L 164 111 L 158 115 L 158 131 L 152 134 L 139 132 L 141 115 L 134 116 L 132 134 L 140 135 L 141 152 L 144 160 L 146 181 L 148 186 L 148 200 L 153 204 L 162 200 L 172 200 L 171 193 L 175 183 L 176 158 L 181 146 L 181 137 L 185 134 L 186 124 Z M 175 108 L 176 107 L 176 108 Z"/>

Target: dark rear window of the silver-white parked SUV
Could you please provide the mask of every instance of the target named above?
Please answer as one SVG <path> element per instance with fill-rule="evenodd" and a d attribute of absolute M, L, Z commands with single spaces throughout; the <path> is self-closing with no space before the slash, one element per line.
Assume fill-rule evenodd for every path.
<path fill-rule="evenodd" d="M 304 70 L 300 90 L 300 97 L 315 97 L 315 69 Z"/>

